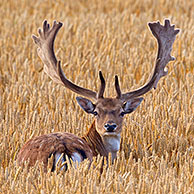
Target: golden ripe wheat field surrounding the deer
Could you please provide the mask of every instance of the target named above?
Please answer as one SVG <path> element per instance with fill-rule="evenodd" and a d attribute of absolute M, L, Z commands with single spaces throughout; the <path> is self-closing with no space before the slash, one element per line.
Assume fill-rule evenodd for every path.
<path fill-rule="evenodd" d="M 194 1 L 23 0 L 0 1 L 0 193 L 194 193 Z M 82 136 L 93 117 L 76 95 L 43 72 L 32 33 L 44 19 L 64 23 L 56 39 L 66 76 L 98 90 L 98 71 L 114 96 L 143 85 L 154 66 L 157 44 L 147 27 L 165 18 L 181 29 L 169 74 L 125 117 L 121 150 L 100 174 L 101 158 L 67 172 L 27 171 L 17 153 L 35 136 L 66 131 Z"/>

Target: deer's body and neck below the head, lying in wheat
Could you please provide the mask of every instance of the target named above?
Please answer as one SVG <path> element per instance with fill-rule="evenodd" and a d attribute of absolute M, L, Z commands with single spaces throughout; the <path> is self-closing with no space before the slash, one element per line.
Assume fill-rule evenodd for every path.
<path fill-rule="evenodd" d="M 28 161 L 29 166 L 33 166 L 38 160 L 43 162 L 44 169 L 47 171 L 48 159 L 53 155 L 53 171 L 59 159 L 64 163 L 66 157 L 78 163 L 85 159 L 92 162 L 92 158 L 98 154 L 108 157 L 108 153 L 111 153 L 112 160 L 114 160 L 119 148 L 120 135 L 102 139 L 96 131 L 94 122 L 88 133 L 83 137 L 78 137 L 66 132 L 51 133 L 35 137 L 22 147 L 17 160 L 20 165 L 24 163 L 24 161 Z M 61 158 L 62 154 L 63 157 Z M 67 169 L 66 165 L 65 169 Z"/>

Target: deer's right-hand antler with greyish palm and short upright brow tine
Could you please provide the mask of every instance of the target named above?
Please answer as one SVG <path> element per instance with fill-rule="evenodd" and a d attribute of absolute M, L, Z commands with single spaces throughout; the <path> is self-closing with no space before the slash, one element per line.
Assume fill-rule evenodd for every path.
<path fill-rule="evenodd" d="M 170 25 L 170 20 L 166 19 L 164 26 L 160 22 L 148 23 L 148 26 L 155 36 L 158 42 L 158 55 L 156 59 L 156 64 L 154 72 L 151 79 L 142 87 L 137 90 L 127 92 L 125 94 L 120 93 L 120 87 L 118 80 L 115 78 L 115 88 L 117 91 L 117 98 L 120 98 L 123 101 L 127 101 L 130 98 L 135 98 L 141 96 L 152 88 L 156 89 L 157 83 L 161 77 L 168 74 L 168 71 L 165 71 L 165 67 L 169 61 L 175 60 L 171 56 L 172 45 L 175 41 L 176 35 L 179 33 L 179 29 L 174 30 L 174 25 Z M 118 78 L 117 78 L 118 79 Z"/>

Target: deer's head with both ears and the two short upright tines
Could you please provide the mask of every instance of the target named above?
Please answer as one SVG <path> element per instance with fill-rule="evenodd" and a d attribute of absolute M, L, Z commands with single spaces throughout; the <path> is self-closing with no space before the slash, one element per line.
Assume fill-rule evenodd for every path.
<path fill-rule="evenodd" d="M 116 98 L 104 98 L 105 80 L 101 71 L 99 72 L 101 88 L 97 94 L 95 103 L 83 97 L 76 100 L 80 107 L 96 119 L 96 130 L 101 136 L 117 136 L 122 130 L 122 121 L 125 114 L 133 112 L 141 103 L 143 98 L 132 98 L 126 102 L 117 93 Z M 115 76 L 115 87 L 118 89 L 118 77 Z"/>

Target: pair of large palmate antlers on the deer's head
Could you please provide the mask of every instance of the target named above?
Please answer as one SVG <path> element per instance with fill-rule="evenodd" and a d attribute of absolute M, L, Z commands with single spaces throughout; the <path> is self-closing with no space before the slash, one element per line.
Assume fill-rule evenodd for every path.
<path fill-rule="evenodd" d="M 142 96 L 143 94 L 150 91 L 152 88 L 157 87 L 157 83 L 161 77 L 167 75 L 165 67 L 169 61 L 173 61 L 175 58 L 171 56 L 172 45 L 175 41 L 176 35 L 179 33 L 179 29 L 174 29 L 174 25 L 170 25 L 170 20 L 166 19 L 164 26 L 159 22 L 148 23 L 148 26 L 155 36 L 158 42 L 158 55 L 156 59 L 155 68 L 151 79 L 142 87 L 122 94 L 118 77 L 115 76 L 115 89 L 117 92 L 117 98 L 121 99 L 123 102 Z M 60 61 L 57 60 L 54 53 L 54 41 L 57 32 L 62 27 L 62 23 L 57 23 L 54 21 L 52 28 L 45 20 L 43 23 L 43 30 L 39 29 L 39 37 L 33 35 L 32 38 L 34 42 L 38 45 L 38 55 L 44 63 L 44 71 L 50 76 L 50 78 L 65 87 L 69 88 L 73 92 L 80 94 L 82 96 L 97 100 L 98 98 L 103 98 L 105 90 L 105 80 L 102 76 L 101 71 L 99 72 L 99 77 L 101 81 L 101 86 L 98 93 L 82 88 L 70 80 L 68 80 L 63 73 L 60 65 Z"/>

